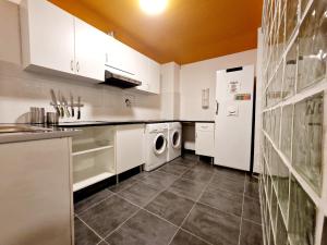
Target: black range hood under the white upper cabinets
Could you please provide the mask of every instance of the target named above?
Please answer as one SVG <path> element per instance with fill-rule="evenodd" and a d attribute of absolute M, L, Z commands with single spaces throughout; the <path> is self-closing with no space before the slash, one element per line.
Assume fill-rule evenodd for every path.
<path fill-rule="evenodd" d="M 142 82 L 131 78 L 126 75 L 116 73 L 106 69 L 105 71 L 105 82 L 100 84 L 110 85 L 120 88 L 132 88 L 142 85 Z"/>

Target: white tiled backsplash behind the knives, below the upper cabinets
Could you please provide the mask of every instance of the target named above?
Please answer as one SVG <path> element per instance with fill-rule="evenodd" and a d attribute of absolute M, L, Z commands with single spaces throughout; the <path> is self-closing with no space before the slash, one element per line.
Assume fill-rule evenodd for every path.
<path fill-rule="evenodd" d="M 81 96 L 81 120 L 150 120 L 160 119 L 160 96 L 141 95 L 132 90 L 122 90 L 109 86 L 93 85 L 83 81 L 74 81 L 25 72 L 21 65 L 0 61 L 0 123 L 28 122 L 29 107 L 50 106 L 50 89 L 59 90 L 69 100 L 70 93 L 76 101 Z M 132 107 L 125 106 L 125 99 L 132 101 Z M 75 121 L 76 119 L 62 119 Z"/>

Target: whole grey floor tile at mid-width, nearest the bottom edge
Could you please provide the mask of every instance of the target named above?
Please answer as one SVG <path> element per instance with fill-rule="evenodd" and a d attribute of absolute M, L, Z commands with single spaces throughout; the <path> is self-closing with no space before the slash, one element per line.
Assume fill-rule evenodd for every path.
<path fill-rule="evenodd" d="M 194 201 L 165 191 L 145 209 L 162 217 L 175 225 L 180 225 L 193 207 Z"/>

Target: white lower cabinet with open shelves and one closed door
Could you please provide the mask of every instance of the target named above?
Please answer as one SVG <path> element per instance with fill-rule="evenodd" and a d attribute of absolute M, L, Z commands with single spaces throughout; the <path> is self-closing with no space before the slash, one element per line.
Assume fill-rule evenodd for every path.
<path fill-rule="evenodd" d="M 74 192 L 144 163 L 144 124 L 82 127 L 82 131 L 72 144 Z"/>

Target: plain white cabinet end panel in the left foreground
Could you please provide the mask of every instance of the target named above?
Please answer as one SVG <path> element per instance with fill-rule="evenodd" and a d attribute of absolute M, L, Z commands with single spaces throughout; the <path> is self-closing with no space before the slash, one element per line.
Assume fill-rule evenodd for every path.
<path fill-rule="evenodd" d="M 0 244 L 73 245 L 71 139 L 0 144 Z"/>

